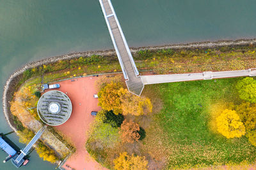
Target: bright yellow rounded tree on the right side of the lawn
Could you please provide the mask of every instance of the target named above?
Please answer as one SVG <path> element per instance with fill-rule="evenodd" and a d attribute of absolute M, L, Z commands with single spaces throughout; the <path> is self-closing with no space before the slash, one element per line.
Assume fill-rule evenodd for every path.
<path fill-rule="evenodd" d="M 216 118 L 218 132 L 227 138 L 240 138 L 245 134 L 245 127 L 235 110 L 224 110 Z"/>

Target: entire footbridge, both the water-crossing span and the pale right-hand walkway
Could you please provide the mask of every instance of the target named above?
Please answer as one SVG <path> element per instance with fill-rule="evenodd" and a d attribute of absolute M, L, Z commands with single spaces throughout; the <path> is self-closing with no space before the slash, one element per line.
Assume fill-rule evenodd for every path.
<path fill-rule="evenodd" d="M 126 85 L 130 92 L 140 96 L 144 85 L 156 83 L 169 83 L 177 81 L 191 80 L 210 80 L 212 78 L 230 78 L 238 76 L 256 76 L 256 69 L 237 70 L 237 71 L 220 71 L 188 74 L 164 74 L 139 76 L 138 69 L 132 58 L 131 51 L 125 40 L 124 33 L 116 17 L 110 0 L 99 0 L 100 6 L 106 24 L 108 25 L 109 34 L 115 46 L 116 54 L 124 74 Z"/>

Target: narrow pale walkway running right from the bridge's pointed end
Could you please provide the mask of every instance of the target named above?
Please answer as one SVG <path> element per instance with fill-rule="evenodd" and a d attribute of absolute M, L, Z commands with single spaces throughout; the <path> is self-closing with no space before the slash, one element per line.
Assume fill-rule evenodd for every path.
<path fill-rule="evenodd" d="M 177 81 L 191 81 L 191 80 L 210 80 L 212 78 L 231 78 L 239 76 L 256 76 L 256 69 L 246 69 L 238 71 L 220 71 L 204 73 L 189 73 L 189 74 L 163 74 L 152 76 L 141 76 L 144 85 L 157 83 L 170 83 Z"/>

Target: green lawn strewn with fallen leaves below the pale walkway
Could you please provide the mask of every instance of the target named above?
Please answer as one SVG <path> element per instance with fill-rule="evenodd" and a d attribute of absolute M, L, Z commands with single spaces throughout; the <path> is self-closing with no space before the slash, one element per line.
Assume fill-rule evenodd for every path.
<path fill-rule="evenodd" d="M 209 167 L 255 162 L 256 147 L 246 137 L 227 139 L 209 127 L 216 103 L 239 103 L 241 78 L 150 85 L 159 90 L 163 109 L 146 129 L 144 146 L 168 168 Z"/>

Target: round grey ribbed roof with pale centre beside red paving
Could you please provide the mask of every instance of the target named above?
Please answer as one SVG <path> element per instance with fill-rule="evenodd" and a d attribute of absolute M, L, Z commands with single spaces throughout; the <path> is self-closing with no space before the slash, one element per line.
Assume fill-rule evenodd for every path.
<path fill-rule="evenodd" d="M 43 94 L 37 104 L 37 113 L 47 125 L 64 124 L 72 112 L 72 103 L 68 96 L 58 90 Z"/>

